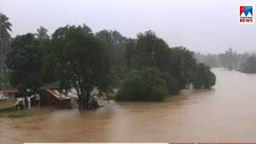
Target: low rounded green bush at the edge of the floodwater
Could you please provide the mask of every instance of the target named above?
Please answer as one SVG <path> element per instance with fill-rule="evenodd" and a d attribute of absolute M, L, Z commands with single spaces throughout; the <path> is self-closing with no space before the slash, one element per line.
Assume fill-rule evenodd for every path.
<path fill-rule="evenodd" d="M 166 98 L 166 81 L 158 70 L 146 68 L 132 70 L 122 79 L 117 101 L 163 101 Z"/>

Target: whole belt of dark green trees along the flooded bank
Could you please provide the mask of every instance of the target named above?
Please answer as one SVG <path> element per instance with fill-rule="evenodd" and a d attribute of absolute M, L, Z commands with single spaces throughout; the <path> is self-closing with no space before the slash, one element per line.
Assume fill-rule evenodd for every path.
<path fill-rule="evenodd" d="M 126 38 L 116 30 L 93 33 L 86 25 L 48 35 L 41 26 L 36 34 L 10 38 L 8 26 L 1 26 L 1 74 L 8 83 L 24 94 L 53 86 L 62 93 L 75 89 L 80 110 L 91 108 L 94 97 L 163 101 L 182 89 L 210 89 L 216 81 L 192 51 L 169 47 L 151 30 Z"/>

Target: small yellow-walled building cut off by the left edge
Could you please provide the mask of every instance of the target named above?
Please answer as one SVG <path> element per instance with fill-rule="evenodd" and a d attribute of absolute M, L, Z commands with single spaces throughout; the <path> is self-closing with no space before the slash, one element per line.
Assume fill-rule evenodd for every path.
<path fill-rule="evenodd" d="M 16 96 L 18 90 L 2 90 L 0 91 L 0 111 L 15 110 Z"/>

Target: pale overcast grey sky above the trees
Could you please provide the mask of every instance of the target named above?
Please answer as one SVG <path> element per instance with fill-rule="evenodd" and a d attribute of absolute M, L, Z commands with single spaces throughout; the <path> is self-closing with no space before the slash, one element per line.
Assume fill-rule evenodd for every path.
<path fill-rule="evenodd" d="M 239 5 L 256 5 L 256 0 L 0 1 L 1 12 L 13 24 L 13 35 L 35 32 L 39 26 L 52 34 L 59 26 L 86 23 L 94 32 L 118 30 L 131 38 L 154 30 L 170 46 L 203 53 L 229 47 L 238 52 L 256 50 L 256 24 L 238 24 Z"/>

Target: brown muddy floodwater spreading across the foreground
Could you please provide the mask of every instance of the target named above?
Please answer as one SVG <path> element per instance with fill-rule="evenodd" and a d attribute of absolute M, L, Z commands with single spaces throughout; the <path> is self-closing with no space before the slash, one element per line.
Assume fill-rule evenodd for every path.
<path fill-rule="evenodd" d="M 256 74 L 214 69 L 213 90 L 166 102 L 112 102 L 98 110 L 35 110 L 0 118 L 0 143 L 256 142 Z"/>

